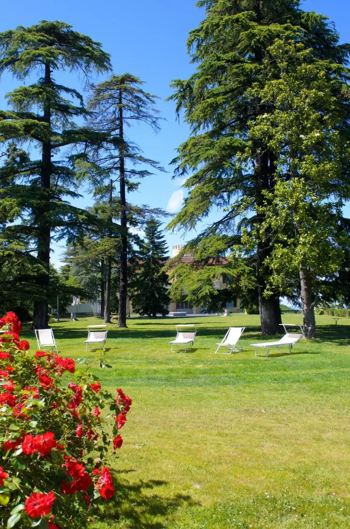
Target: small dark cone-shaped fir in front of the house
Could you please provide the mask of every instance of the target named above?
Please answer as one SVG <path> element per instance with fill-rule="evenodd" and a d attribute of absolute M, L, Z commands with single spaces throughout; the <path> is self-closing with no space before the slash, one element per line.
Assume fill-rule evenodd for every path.
<path fill-rule="evenodd" d="M 145 227 L 145 243 L 140 249 L 139 271 L 131 285 L 133 308 L 141 316 L 168 314 L 168 276 L 163 270 L 167 261 L 166 245 L 160 223 L 150 218 Z"/>

